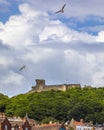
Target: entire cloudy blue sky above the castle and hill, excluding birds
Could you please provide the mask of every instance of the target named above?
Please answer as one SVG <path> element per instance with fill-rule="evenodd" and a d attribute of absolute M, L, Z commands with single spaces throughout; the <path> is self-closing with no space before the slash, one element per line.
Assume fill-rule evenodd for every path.
<path fill-rule="evenodd" d="M 103 87 L 103 50 L 104 0 L 0 0 L 2 94 L 24 94 L 36 79 Z"/>

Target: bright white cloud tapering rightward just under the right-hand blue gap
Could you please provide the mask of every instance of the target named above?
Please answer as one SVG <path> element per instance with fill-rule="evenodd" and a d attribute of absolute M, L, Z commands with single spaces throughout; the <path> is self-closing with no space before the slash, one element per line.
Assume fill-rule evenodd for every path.
<path fill-rule="evenodd" d="M 63 42 L 69 43 L 70 41 L 87 41 L 94 42 L 95 36 L 89 35 L 88 33 L 79 33 L 77 31 L 71 30 L 63 25 L 59 21 L 51 21 L 39 35 L 40 41 L 48 39 L 60 39 Z"/>

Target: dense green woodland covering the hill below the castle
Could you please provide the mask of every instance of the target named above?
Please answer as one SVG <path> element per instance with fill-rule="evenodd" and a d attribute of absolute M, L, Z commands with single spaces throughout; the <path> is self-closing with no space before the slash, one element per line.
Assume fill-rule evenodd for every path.
<path fill-rule="evenodd" d="M 104 87 L 73 88 L 20 94 L 9 98 L 0 94 L 0 111 L 7 116 L 30 118 L 39 122 L 65 121 L 74 118 L 85 122 L 104 122 Z"/>

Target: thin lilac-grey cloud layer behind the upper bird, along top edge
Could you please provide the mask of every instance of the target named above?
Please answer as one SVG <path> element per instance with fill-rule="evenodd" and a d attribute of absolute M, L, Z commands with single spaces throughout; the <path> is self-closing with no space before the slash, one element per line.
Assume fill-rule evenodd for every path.
<path fill-rule="evenodd" d="M 49 11 L 53 15 L 54 12 L 56 12 L 58 9 L 62 7 L 64 3 L 66 3 L 65 12 L 64 12 L 64 15 L 66 17 L 78 17 L 80 19 L 83 19 L 86 18 L 86 16 L 101 16 L 101 17 L 104 16 L 103 0 L 99 0 L 99 1 L 98 0 L 87 0 L 87 1 L 45 0 L 44 2 L 43 0 L 38 0 L 38 2 L 34 0 L 25 0 L 25 2 L 28 2 L 32 8 L 35 7 L 36 9 L 41 11 Z"/>

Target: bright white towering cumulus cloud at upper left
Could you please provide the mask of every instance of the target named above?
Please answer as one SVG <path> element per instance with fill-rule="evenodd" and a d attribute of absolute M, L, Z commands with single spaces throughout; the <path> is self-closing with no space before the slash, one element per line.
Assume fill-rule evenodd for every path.
<path fill-rule="evenodd" d="M 20 11 L 21 15 L 11 16 L 4 25 L 0 24 L 0 39 L 17 48 L 38 42 L 38 34 L 47 22 L 46 14 L 32 10 L 27 4 L 20 5 Z M 40 21 L 41 17 L 43 21 Z"/>

